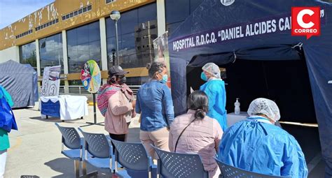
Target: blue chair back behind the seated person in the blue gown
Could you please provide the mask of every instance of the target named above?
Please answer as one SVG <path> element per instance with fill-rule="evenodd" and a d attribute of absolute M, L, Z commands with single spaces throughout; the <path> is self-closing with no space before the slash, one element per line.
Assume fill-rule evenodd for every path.
<path fill-rule="evenodd" d="M 232 165 L 228 165 L 214 158 L 216 163 L 219 165 L 221 170 L 220 178 L 291 178 L 289 176 L 273 176 L 273 175 L 262 175 L 256 172 L 250 172 L 247 170 L 242 170 L 240 168 L 235 168 Z"/>

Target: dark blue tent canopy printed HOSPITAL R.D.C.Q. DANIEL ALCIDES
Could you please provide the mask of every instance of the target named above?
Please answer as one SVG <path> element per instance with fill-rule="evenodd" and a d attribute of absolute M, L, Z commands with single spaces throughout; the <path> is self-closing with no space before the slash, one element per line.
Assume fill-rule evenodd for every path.
<path fill-rule="evenodd" d="M 232 0 L 233 1 L 233 0 Z M 326 177 L 332 176 L 332 5 L 310 0 L 205 0 L 169 38 L 174 111 L 186 111 L 186 68 L 305 58 Z M 321 35 L 291 36 L 291 8 L 319 6 Z M 235 63 L 236 64 L 236 63 Z M 198 79 L 199 76 L 195 76 Z M 331 81 L 331 82 L 329 82 Z"/>

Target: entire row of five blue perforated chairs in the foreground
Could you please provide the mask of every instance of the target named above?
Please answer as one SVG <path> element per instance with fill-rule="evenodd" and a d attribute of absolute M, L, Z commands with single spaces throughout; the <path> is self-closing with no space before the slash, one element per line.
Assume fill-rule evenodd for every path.
<path fill-rule="evenodd" d="M 159 159 L 158 164 L 146 153 L 141 143 L 120 142 L 112 140 L 101 133 L 87 133 L 78 128 L 63 127 L 55 124 L 62 133 L 62 154 L 74 160 L 76 177 L 97 176 L 97 171 L 87 173 L 86 163 L 97 168 L 104 168 L 118 177 L 193 177 L 207 178 L 198 154 L 177 154 L 153 147 Z M 111 145 L 116 147 L 115 154 Z M 64 149 L 67 147 L 67 149 Z M 235 168 L 216 159 L 221 170 L 220 177 L 258 177 L 277 178 L 277 176 L 261 175 Z M 80 166 L 81 165 L 81 166 Z M 83 175 L 81 176 L 80 168 Z M 286 177 L 284 177 L 286 178 Z"/>

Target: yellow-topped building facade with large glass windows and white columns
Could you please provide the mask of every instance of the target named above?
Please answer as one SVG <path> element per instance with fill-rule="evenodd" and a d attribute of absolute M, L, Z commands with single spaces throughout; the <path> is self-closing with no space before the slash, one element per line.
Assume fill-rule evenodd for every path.
<path fill-rule="evenodd" d="M 60 92 L 77 93 L 81 68 L 93 59 L 106 82 L 116 54 L 115 22 L 109 15 L 118 10 L 118 61 L 130 72 L 127 83 L 139 86 L 148 80 L 153 40 L 166 31 L 172 34 L 202 1 L 55 0 L 0 30 L 0 63 L 30 64 L 39 80 L 43 68 L 61 65 Z"/>

